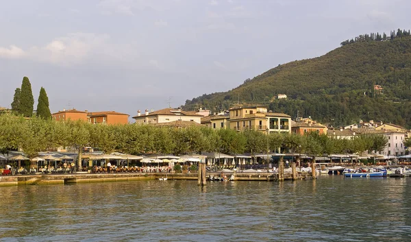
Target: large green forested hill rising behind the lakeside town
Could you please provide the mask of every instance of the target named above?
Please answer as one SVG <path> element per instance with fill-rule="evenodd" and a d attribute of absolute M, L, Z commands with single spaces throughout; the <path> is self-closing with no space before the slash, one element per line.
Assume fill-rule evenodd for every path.
<path fill-rule="evenodd" d="M 187 100 L 184 108 L 224 110 L 239 99 L 325 124 L 373 119 L 410 128 L 411 36 L 356 41 L 347 40 L 318 58 L 279 65 L 227 92 Z M 287 99 L 275 99 L 277 94 Z"/>

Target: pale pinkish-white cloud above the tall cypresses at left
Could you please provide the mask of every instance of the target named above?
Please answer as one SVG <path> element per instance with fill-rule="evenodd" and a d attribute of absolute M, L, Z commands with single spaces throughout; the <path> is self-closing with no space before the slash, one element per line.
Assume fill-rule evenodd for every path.
<path fill-rule="evenodd" d="M 73 33 L 54 38 L 44 46 L 33 46 L 27 50 L 11 45 L 0 47 L 0 57 L 40 60 L 61 66 L 72 66 L 91 58 L 93 53 L 104 52 L 110 37 L 92 33 Z"/>

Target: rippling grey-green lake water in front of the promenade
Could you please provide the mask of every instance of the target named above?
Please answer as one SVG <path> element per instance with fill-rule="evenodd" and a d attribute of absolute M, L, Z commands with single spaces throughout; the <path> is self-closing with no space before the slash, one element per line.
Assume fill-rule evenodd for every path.
<path fill-rule="evenodd" d="M 1 187 L 0 241 L 410 241 L 411 178 Z"/>

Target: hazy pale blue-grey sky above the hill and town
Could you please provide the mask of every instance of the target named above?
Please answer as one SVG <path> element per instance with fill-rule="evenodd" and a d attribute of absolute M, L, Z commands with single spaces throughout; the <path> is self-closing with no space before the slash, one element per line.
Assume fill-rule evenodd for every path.
<path fill-rule="evenodd" d="M 0 106 L 23 76 L 51 112 L 177 107 L 347 38 L 410 29 L 401 0 L 0 0 Z"/>

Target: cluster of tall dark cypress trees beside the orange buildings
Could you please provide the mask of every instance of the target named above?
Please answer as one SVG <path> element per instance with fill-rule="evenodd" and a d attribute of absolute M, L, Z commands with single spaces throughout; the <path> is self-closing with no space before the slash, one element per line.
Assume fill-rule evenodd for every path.
<path fill-rule="evenodd" d="M 28 77 L 23 77 L 21 88 L 16 88 L 12 102 L 12 112 L 14 114 L 21 114 L 23 117 L 32 117 L 34 110 L 34 97 L 32 93 L 32 84 L 30 84 Z M 42 119 L 51 119 L 51 112 L 49 108 L 49 97 L 45 88 L 40 88 L 40 95 L 38 95 L 38 104 L 36 110 L 37 117 Z"/>

